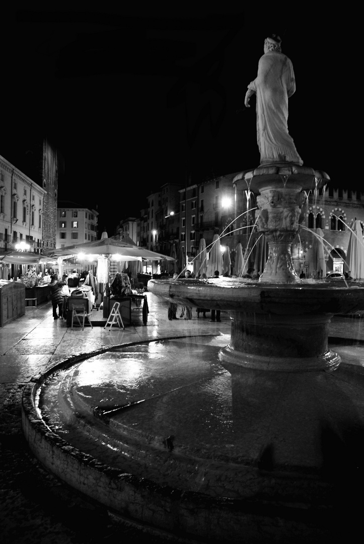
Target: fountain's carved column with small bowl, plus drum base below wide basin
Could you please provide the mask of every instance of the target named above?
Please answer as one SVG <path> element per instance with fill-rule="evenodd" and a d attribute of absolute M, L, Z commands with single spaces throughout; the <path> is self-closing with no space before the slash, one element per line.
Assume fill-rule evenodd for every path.
<path fill-rule="evenodd" d="M 269 256 L 259 283 L 289 285 L 300 282 L 292 262 L 292 243 L 305 214 L 306 191 L 329 177 L 324 172 L 293 165 L 273 164 L 242 172 L 234 183 L 259 192 L 256 224 L 269 244 Z M 294 294 L 292 293 L 292 296 Z M 322 311 L 322 310 L 321 310 Z M 281 310 L 231 312 L 231 343 L 221 351 L 221 361 L 265 370 L 302 372 L 334 369 L 340 357 L 328 349 L 328 325 L 332 314 Z M 307 342 L 309 339 L 309 342 Z"/>

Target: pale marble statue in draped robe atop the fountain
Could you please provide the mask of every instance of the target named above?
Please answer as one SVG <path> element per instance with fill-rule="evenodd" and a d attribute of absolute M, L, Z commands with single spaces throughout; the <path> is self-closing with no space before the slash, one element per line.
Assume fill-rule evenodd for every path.
<path fill-rule="evenodd" d="M 249 83 L 245 106 L 256 94 L 257 141 L 261 165 L 289 162 L 303 164 L 288 134 L 288 98 L 296 90 L 291 60 L 281 53 L 281 39 L 273 34 L 264 41 L 258 75 Z"/>

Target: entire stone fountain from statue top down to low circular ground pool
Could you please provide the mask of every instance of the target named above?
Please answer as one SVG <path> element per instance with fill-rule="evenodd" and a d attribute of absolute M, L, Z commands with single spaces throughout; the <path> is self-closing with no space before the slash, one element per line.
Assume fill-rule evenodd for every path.
<path fill-rule="evenodd" d="M 266 40 L 258 77 L 245 98 L 249 106 L 251 94 L 257 95 L 261 164 L 234 180 L 258 195 L 257 230 L 269 243 L 264 273 L 257 282 L 148 284 L 167 301 L 229 312 L 230 343 L 221 344 L 217 329 L 211 342 L 218 348 L 210 351 L 210 341 L 193 339 L 191 329 L 197 350 L 189 355 L 186 343 L 183 361 L 161 345 L 159 362 L 154 347 L 152 390 L 142 347 L 143 372 L 135 373 L 135 361 L 136 377 L 127 384 L 120 362 L 99 354 L 93 363 L 70 361 L 50 370 L 24 392 L 24 430 L 48 468 L 113 512 L 147 524 L 151 532 L 167 531 L 178 542 L 230 544 L 242 535 L 246 542 L 319 542 L 328 527 L 336 532 L 339 514 L 350 516 L 348 497 L 361 482 L 364 373 L 341 363 L 328 347 L 328 335 L 334 314 L 364 309 L 364 289 L 326 281 L 312 285 L 294 271 L 291 246 L 303 222 L 305 193 L 329 177 L 303 166 L 288 134 L 294 75 L 279 46 L 277 36 Z M 285 74 L 278 96 L 263 88 L 264 70 Z M 90 383 L 97 373 L 102 387 Z M 119 400 L 103 407 L 108 391 L 110 398 L 116 391 Z M 72 446 L 57 436 L 64 424 L 57 417 L 65 419 Z M 173 426 L 178 434 L 166 437 L 166 451 L 157 435 Z M 103 452 L 100 458 L 95 454 L 97 443 L 112 455 L 110 465 L 100 460 Z"/>

